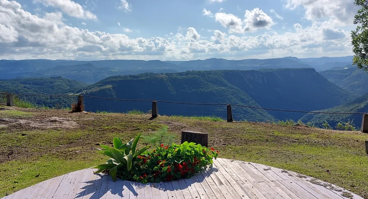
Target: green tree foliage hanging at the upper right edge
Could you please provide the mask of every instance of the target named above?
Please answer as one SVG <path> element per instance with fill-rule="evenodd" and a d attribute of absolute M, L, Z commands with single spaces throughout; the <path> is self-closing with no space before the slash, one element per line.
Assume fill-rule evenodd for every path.
<path fill-rule="evenodd" d="M 368 4 L 366 0 L 355 0 L 359 10 L 354 17 L 355 30 L 351 31 L 351 44 L 353 45 L 353 64 L 358 69 L 368 72 Z"/>

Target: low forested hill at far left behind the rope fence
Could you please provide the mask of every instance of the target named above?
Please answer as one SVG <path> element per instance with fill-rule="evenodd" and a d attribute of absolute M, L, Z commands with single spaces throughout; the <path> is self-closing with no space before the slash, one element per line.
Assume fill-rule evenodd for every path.
<path fill-rule="evenodd" d="M 72 94 L 82 91 L 81 88 L 87 84 L 62 77 L 45 78 L 15 78 L 10 80 L 0 80 L 0 92 L 10 92 L 17 94 L 31 95 L 59 95 Z M 74 98 L 71 97 L 28 97 L 20 96 L 22 100 L 32 104 L 45 107 L 70 107 Z"/>

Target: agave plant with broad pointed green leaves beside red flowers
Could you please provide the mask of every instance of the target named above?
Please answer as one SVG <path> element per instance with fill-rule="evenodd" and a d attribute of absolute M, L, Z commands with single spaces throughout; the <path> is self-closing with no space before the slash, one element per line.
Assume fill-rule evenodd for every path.
<path fill-rule="evenodd" d="M 109 156 L 110 159 L 106 161 L 105 164 L 100 164 L 96 167 L 99 169 L 95 173 L 102 172 L 103 170 L 109 170 L 110 176 L 113 181 L 116 181 L 116 173 L 120 169 L 126 168 L 128 171 L 132 169 L 133 158 L 141 155 L 144 151 L 149 149 L 151 146 L 143 147 L 141 150 L 136 151 L 137 143 L 139 137 L 141 137 L 142 133 L 133 139 L 131 139 L 128 143 L 123 144 L 123 141 L 119 137 L 114 137 L 113 145 L 114 147 L 109 147 L 103 144 L 100 144 L 102 149 L 99 149 L 98 153 Z"/>

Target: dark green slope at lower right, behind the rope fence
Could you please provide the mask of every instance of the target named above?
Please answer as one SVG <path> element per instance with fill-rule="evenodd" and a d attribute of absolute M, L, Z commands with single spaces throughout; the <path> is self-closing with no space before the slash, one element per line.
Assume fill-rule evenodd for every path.
<path fill-rule="evenodd" d="M 368 93 L 344 105 L 322 110 L 323 112 L 368 112 Z M 339 122 L 353 121 L 355 127 L 360 128 L 362 123 L 361 114 L 307 114 L 301 118 L 304 122 L 313 122 L 321 125 L 325 121 L 335 128 Z"/>

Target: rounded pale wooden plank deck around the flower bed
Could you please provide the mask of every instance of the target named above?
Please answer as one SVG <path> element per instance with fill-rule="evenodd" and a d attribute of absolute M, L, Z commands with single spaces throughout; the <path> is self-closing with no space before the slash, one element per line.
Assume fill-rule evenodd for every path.
<path fill-rule="evenodd" d="M 217 158 L 212 168 L 197 173 L 191 179 L 159 184 L 141 184 L 120 179 L 113 182 L 109 175 L 93 174 L 92 169 L 84 169 L 40 182 L 3 199 L 347 199 L 351 196 L 362 199 L 343 188 L 295 172 Z"/>

